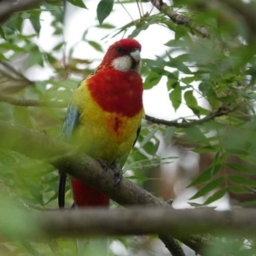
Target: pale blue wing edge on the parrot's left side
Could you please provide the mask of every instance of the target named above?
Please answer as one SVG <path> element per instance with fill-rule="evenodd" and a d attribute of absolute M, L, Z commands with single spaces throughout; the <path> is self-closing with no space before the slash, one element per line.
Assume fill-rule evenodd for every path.
<path fill-rule="evenodd" d="M 67 114 L 62 126 L 61 139 L 69 143 L 71 141 L 73 131 L 79 124 L 79 110 L 75 104 L 71 103 L 67 108 Z"/>

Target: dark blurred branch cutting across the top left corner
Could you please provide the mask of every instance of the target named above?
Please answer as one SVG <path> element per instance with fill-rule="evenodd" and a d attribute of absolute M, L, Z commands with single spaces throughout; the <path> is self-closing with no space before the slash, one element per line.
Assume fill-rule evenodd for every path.
<path fill-rule="evenodd" d="M 22 0 L 22 1 L 3 1 L 0 3 L 0 24 L 5 20 L 9 19 L 10 15 L 13 15 L 15 12 L 25 10 L 32 7 L 38 3 L 43 2 L 43 0 Z"/>

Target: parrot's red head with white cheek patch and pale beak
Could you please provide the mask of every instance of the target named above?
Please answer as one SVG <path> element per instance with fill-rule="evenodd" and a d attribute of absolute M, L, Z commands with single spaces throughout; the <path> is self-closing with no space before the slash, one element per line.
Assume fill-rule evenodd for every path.
<path fill-rule="evenodd" d="M 141 49 L 141 44 L 135 39 L 121 39 L 108 48 L 99 68 L 115 69 L 121 72 L 136 71 L 138 73 L 141 64 Z"/>

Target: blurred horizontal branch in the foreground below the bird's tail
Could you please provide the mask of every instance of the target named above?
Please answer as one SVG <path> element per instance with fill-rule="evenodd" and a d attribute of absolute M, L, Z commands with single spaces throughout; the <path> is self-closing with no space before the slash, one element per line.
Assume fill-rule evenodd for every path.
<path fill-rule="evenodd" d="M 150 234 L 189 237 L 193 234 L 216 236 L 221 233 L 222 236 L 229 236 L 236 233 L 248 238 L 255 237 L 256 229 L 255 209 L 90 208 L 33 213 L 32 218 L 36 219 L 47 237 Z"/>

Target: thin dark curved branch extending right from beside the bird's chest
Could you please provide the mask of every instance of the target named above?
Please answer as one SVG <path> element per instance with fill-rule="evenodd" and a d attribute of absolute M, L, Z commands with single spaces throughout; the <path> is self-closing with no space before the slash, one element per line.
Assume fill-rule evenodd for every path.
<path fill-rule="evenodd" d="M 228 113 L 234 111 L 235 108 L 228 108 L 227 106 L 222 106 L 218 108 L 216 112 L 212 112 L 203 119 L 199 120 L 192 120 L 187 123 L 178 123 L 177 121 L 167 121 L 165 119 L 156 119 L 154 117 L 149 116 L 148 114 L 145 115 L 145 118 L 154 124 L 158 125 L 166 125 L 166 126 L 175 126 L 177 128 L 188 128 L 194 125 L 201 125 L 203 123 L 206 123 L 207 121 L 210 121 L 212 119 L 215 119 L 216 117 L 227 115 Z"/>

